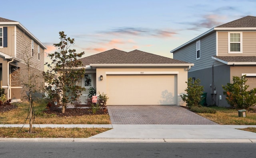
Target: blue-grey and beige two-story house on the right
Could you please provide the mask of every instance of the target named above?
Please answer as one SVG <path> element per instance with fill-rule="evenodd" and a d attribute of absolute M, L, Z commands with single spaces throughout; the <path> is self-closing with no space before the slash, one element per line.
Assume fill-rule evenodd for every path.
<path fill-rule="evenodd" d="M 256 88 L 256 17 L 246 16 L 219 25 L 170 51 L 173 58 L 194 63 L 188 77 L 199 78 L 208 105 L 229 106 L 222 85 L 246 74 Z"/>

